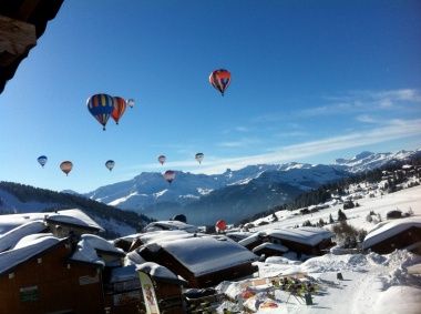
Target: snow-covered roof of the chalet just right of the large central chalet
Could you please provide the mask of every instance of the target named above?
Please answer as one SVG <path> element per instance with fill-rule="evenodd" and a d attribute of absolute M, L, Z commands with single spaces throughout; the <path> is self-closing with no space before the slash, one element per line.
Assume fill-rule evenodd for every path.
<path fill-rule="evenodd" d="M 266 235 L 280 240 L 292 241 L 315 246 L 324 240 L 331 239 L 333 234 L 321 227 L 306 226 L 296 229 L 268 229 Z"/>

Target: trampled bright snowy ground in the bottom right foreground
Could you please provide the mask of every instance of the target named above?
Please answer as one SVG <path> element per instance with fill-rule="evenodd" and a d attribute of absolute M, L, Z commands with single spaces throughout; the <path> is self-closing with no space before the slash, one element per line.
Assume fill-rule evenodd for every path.
<path fill-rule="evenodd" d="M 225 302 L 218 308 L 244 313 L 243 306 L 254 310 L 251 313 L 421 313 L 421 275 L 409 274 L 408 266 L 420 263 L 421 256 L 405 251 L 396 251 L 389 255 L 376 253 L 332 255 L 314 257 L 302 264 L 292 264 L 285 259 L 271 259 L 271 263 L 257 263 L 259 277 L 275 275 L 305 274 L 318 285 L 318 292 L 312 295 L 314 305 L 306 305 L 304 298 L 289 296 L 289 293 L 275 290 L 274 298 L 268 297 L 270 284 L 251 287 L 258 292 L 256 296 L 244 296 L 243 282 L 224 282 L 218 288 L 236 302 Z M 268 260 L 269 262 L 270 260 Z M 340 272 L 343 281 L 337 280 Z M 289 300 L 288 300 L 289 296 Z M 276 308 L 259 308 L 268 301 Z M 288 303 L 287 303 L 288 301 Z M 274 305 L 275 306 L 275 305 Z"/>

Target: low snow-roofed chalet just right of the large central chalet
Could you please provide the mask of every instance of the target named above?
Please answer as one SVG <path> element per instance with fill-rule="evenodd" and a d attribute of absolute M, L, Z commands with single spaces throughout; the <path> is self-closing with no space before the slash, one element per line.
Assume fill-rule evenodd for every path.
<path fill-rule="evenodd" d="M 258 245 L 269 242 L 286 246 L 289 251 L 299 254 L 321 255 L 333 245 L 332 237 L 333 234 L 330 231 L 320 227 L 268 229 L 257 232 L 238 243 L 254 250 Z"/>

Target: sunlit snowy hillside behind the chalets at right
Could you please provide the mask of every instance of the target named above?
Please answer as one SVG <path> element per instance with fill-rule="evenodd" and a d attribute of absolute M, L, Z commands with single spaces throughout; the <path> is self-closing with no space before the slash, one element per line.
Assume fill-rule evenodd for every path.
<path fill-rule="evenodd" d="M 421 215 L 421 185 L 401 190 L 391 194 L 377 195 L 376 197 L 364 197 L 357 200 L 360 204 L 359 207 L 345 210 L 345 214 L 348 217 L 348 223 L 357 229 L 364 229 L 370 231 L 374 227 L 374 223 L 367 222 L 366 217 L 370 211 L 374 211 L 376 214 L 380 214 L 382 220 L 386 220 L 386 214 L 392 210 L 399 209 L 402 212 L 408 212 L 410 209 L 414 212 L 414 215 Z M 269 225 L 257 226 L 253 231 L 265 230 L 267 227 L 294 227 L 295 225 L 302 224 L 304 221 L 309 220 L 311 223 L 317 223 L 320 219 L 325 222 L 329 221 L 329 214 L 336 220 L 338 217 L 338 210 L 342 209 L 342 204 L 331 205 L 328 209 L 320 210 L 312 214 L 301 215 L 299 210 L 297 211 L 280 211 L 277 212 L 279 221 Z M 258 224 L 260 221 L 268 219 L 261 219 L 255 222 Z M 376 217 L 374 217 L 376 221 Z"/>

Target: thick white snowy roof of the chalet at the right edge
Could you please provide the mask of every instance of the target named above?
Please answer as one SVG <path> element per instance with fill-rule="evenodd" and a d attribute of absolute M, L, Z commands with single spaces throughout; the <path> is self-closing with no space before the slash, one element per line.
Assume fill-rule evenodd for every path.
<path fill-rule="evenodd" d="M 421 217 L 397 219 L 391 220 L 388 223 L 383 222 L 380 227 L 376 227 L 367 234 L 364 242 L 362 243 L 362 249 L 369 249 L 412 226 L 421 229 Z"/>

